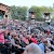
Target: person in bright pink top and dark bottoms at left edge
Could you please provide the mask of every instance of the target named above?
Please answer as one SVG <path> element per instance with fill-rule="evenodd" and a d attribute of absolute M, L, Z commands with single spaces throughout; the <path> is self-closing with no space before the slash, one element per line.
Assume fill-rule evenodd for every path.
<path fill-rule="evenodd" d="M 3 29 L 0 30 L 0 52 L 2 54 L 6 54 L 6 48 L 4 45 L 4 31 Z"/>

